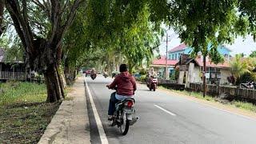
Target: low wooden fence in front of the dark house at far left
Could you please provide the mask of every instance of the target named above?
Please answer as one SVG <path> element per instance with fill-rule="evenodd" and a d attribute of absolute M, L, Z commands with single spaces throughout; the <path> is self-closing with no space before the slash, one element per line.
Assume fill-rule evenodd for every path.
<path fill-rule="evenodd" d="M 25 72 L 10 72 L 10 71 L 0 71 L 0 80 L 8 80 L 8 79 L 15 79 L 15 80 L 25 80 L 26 75 Z"/>

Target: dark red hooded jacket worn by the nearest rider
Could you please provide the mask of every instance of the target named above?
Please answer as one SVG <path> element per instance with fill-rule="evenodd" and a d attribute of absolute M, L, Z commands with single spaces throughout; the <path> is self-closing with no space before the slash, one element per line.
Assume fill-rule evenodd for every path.
<path fill-rule="evenodd" d="M 109 88 L 114 89 L 116 86 L 118 87 L 117 94 L 119 95 L 132 96 L 137 89 L 134 77 L 127 71 L 118 74 Z"/>

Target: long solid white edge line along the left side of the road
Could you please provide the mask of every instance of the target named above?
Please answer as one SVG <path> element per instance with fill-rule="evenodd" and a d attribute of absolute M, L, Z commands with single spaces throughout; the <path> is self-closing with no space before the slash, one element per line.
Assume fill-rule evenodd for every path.
<path fill-rule="evenodd" d="M 85 82 L 86 82 L 85 77 L 84 77 L 84 79 L 85 79 Z M 94 104 L 94 100 L 93 100 L 93 97 L 91 96 L 90 89 L 88 87 L 87 82 L 86 82 L 86 89 L 88 91 L 88 95 L 89 95 L 89 98 L 90 98 L 90 105 L 93 109 L 94 118 L 95 118 L 95 121 L 96 121 L 96 124 L 97 124 L 97 127 L 98 127 L 98 134 L 101 138 L 102 144 L 108 144 L 109 142 L 107 141 L 106 134 L 105 134 L 105 131 L 104 131 L 103 126 L 102 126 L 102 121 L 99 118 L 98 111 L 97 111 L 96 106 Z"/>

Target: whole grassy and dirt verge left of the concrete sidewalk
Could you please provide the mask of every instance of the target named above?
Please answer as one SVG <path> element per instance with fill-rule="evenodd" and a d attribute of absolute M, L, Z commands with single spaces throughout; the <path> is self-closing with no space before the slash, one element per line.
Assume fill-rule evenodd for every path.
<path fill-rule="evenodd" d="M 0 83 L 0 143 L 36 143 L 58 110 L 46 103 L 46 85 Z"/>

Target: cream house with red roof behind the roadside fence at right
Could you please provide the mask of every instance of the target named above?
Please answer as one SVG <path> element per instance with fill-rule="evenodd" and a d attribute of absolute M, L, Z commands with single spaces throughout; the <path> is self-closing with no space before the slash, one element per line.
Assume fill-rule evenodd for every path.
<path fill-rule="evenodd" d="M 203 62 L 202 56 L 190 58 L 188 54 L 181 54 L 181 61 L 176 65 L 179 68 L 178 83 L 202 83 Z M 231 74 L 230 63 L 225 61 L 218 63 L 206 61 L 206 83 L 208 84 L 228 84 L 228 77 Z"/>

